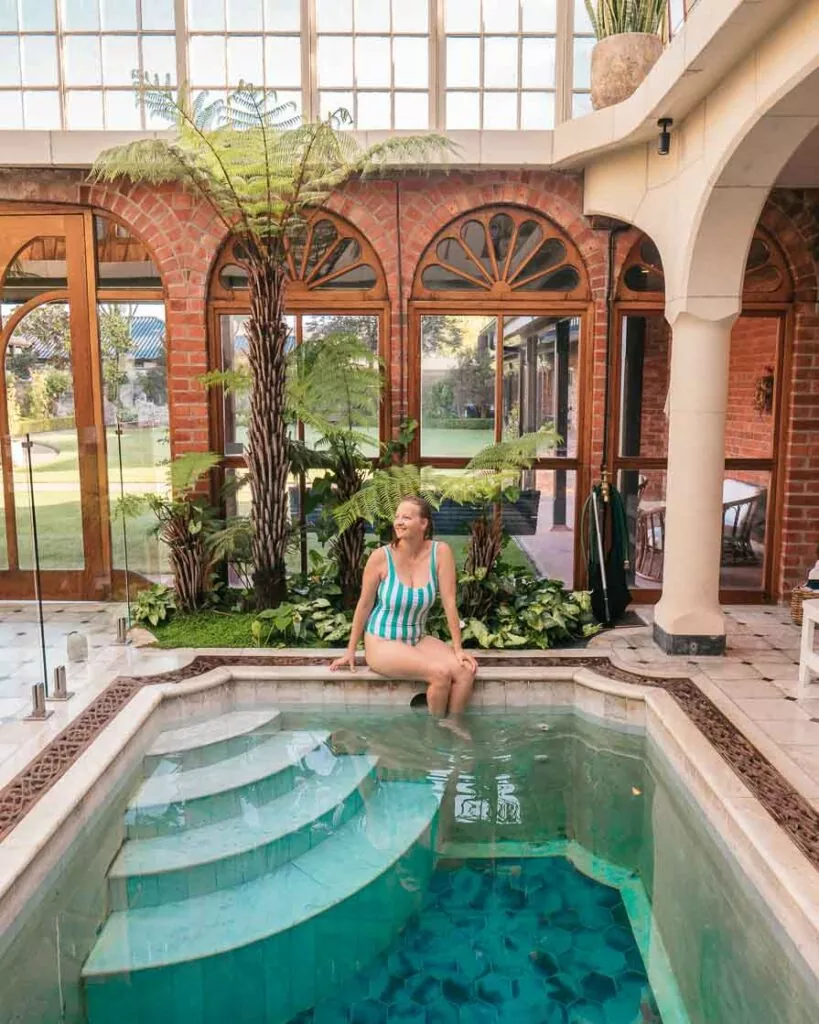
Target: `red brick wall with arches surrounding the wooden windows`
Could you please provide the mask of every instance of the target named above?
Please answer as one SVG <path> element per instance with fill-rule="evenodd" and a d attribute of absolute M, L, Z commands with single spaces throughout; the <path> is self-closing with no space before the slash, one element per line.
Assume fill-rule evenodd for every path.
<path fill-rule="evenodd" d="M 0 201 L 27 207 L 37 203 L 93 206 L 121 218 L 147 245 L 167 294 L 173 452 L 207 449 L 211 443 L 208 402 L 198 378 L 208 368 L 208 276 L 225 233 L 213 213 L 174 187 L 89 186 L 78 171 L 0 170 Z M 333 198 L 329 206 L 370 239 L 384 266 L 390 300 L 389 367 L 394 421 L 406 409 L 407 358 L 410 346 L 415 343 L 407 324 L 408 297 L 424 249 L 446 223 L 468 210 L 500 203 L 530 207 L 552 218 L 578 246 L 592 290 L 584 339 L 590 357 L 591 390 L 586 396 L 588 426 L 580 431 L 586 449 L 579 454 L 590 467 L 587 475 L 598 474 L 603 432 L 608 234 L 595 230 L 583 216 L 581 202 L 578 176 L 534 170 L 430 174 L 401 178 L 397 185 L 394 181 L 355 181 Z M 817 196 L 779 190 L 772 194 L 762 217 L 762 223 L 782 246 L 795 285 L 792 369 L 789 379 L 783 382 L 787 407 L 783 424 L 780 592 L 803 577 L 806 566 L 815 560 L 819 542 L 819 310 L 812 255 L 819 251 L 817 210 Z M 617 238 L 617 272 L 636 238 L 635 230 Z M 656 326 L 647 349 L 643 425 L 646 454 L 654 454 L 652 449 L 659 454 L 661 444 L 664 449 L 662 367 L 667 353 L 662 351 L 663 330 L 661 323 Z M 743 345 L 750 345 L 750 326 L 742 324 L 737 330 L 742 332 Z M 737 375 L 732 403 L 736 398 L 737 409 L 744 411 L 752 385 L 745 380 L 748 372 L 739 362 L 732 366 L 732 371 Z M 743 379 L 741 385 L 739 377 Z M 743 424 L 746 450 L 742 454 L 748 454 L 748 426 L 756 434 L 765 424 L 757 422 L 752 410 L 742 416 L 737 413 L 733 423 L 735 439 L 731 444 L 738 443 L 739 424 Z M 579 479 L 578 490 L 585 490 L 588 483 L 588 479 Z"/>

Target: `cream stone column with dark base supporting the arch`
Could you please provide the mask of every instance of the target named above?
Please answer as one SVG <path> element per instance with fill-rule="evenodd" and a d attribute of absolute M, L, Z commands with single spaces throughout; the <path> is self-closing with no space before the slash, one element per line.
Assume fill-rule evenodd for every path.
<path fill-rule="evenodd" d="M 725 415 L 734 315 L 672 324 L 665 558 L 654 639 L 670 654 L 722 654 Z"/>

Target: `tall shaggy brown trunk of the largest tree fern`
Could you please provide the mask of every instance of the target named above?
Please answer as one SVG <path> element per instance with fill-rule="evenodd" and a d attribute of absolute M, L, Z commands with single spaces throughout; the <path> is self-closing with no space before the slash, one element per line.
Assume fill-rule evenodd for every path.
<path fill-rule="evenodd" d="M 248 261 L 250 317 L 248 362 L 252 377 L 248 470 L 253 522 L 253 587 L 256 606 L 272 608 L 287 596 L 288 451 L 285 407 L 286 345 L 284 268 L 256 254 Z"/>

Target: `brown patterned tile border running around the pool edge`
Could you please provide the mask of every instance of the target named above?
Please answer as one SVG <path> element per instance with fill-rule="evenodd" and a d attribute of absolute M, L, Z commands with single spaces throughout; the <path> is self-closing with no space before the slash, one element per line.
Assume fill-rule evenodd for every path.
<path fill-rule="evenodd" d="M 270 665 L 320 667 L 329 665 L 330 660 L 329 657 L 316 655 L 203 654 L 172 672 L 115 679 L 71 725 L 0 791 L 0 840 L 55 784 L 143 686 L 183 683 L 214 669 L 238 665 L 246 668 Z M 616 682 L 662 689 L 674 698 L 814 867 L 819 869 L 819 812 L 814 810 L 691 679 L 638 675 L 612 665 L 607 655 L 501 656 L 487 658 L 483 664 L 487 668 L 590 669 Z"/>

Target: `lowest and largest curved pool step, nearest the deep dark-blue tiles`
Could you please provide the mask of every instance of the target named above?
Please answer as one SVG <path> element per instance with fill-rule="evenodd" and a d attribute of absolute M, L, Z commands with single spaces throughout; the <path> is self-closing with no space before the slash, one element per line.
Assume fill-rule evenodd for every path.
<path fill-rule="evenodd" d="M 433 866 L 438 797 L 383 782 L 270 873 L 114 912 L 83 968 L 89 1024 L 285 1024 L 386 948 Z"/>

